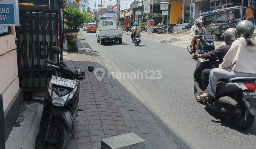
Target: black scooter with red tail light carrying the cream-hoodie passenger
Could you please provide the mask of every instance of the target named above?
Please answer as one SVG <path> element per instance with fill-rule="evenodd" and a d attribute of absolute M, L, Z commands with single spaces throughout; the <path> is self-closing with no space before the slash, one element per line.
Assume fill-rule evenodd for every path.
<path fill-rule="evenodd" d="M 212 106 L 224 118 L 240 129 L 252 126 L 256 116 L 256 78 L 220 79 L 215 97 L 201 100 L 199 95 L 204 91 L 202 85 L 202 71 L 206 68 L 217 68 L 218 60 L 199 58 L 193 74 L 194 96 L 196 100 L 206 106 Z"/>

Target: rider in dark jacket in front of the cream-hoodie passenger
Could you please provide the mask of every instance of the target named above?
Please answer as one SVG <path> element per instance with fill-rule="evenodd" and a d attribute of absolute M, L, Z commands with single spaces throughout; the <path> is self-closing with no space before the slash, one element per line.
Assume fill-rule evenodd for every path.
<path fill-rule="evenodd" d="M 231 44 L 237 39 L 236 28 L 229 28 L 224 32 L 224 42 L 226 45 L 220 46 L 218 49 L 210 51 L 204 54 L 198 54 L 197 57 L 204 59 L 214 59 L 218 58 L 219 64 L 223 62 L 223 58 L 231 47 Z M 202 83 L 203 88 L 206 89 L 209 83 L 209 75 L 211 69 L 204 69 L 202 71 Z"/>

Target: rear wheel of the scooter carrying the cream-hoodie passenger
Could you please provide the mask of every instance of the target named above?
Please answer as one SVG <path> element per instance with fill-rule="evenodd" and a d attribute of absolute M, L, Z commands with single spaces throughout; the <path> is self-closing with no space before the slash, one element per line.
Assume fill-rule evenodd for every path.
<path fill-rule="evenodd" d="M 233 117 L 231 121 L 239 129 L 247 129 L 254 123 L 255 117 L 246 109 L 241 117 Z"/>

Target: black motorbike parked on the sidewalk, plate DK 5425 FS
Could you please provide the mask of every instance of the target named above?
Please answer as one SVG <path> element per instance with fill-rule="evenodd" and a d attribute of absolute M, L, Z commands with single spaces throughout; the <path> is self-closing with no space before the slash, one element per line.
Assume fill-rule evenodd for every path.
<path fill-rule="evenodd" d="M 69 142 L 69 130 L 73 138 L 78 139 L 74 130 L 74 122 L 78 111 L 83 111 L 78 106 L 79 81 L 85 81 L 85 71 L 92 72 L 94 67 L 89 66 L 82 72 L 63 61 L 61 50 L 58 47 L 53 46 L 49 50 L 54 54 L 60 54 L 61 60 L 58 62 L 46 60 L 47 66 L 54 67 L 60 76 L 52 76 L 44 92 L 44 106 L 35 148 L 66 149 Z"/>

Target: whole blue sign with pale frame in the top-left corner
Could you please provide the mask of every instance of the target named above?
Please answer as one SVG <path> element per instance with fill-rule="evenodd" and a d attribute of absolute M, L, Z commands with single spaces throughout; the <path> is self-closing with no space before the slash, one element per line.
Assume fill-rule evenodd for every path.
<path fill-rule="evenodd" d="M 18 0 L 0 0 L 0 26 L 20 26 Z"/>

